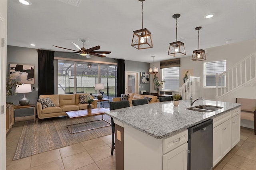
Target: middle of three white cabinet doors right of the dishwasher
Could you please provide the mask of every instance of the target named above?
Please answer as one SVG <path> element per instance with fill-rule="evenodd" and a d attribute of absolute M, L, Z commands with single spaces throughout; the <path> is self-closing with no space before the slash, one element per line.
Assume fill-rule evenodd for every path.
<path fill-rule="evenodd" d="M 222 124 L 221 139 L 222 158 L 231 150 L 231 121 L 228 120 Z"/>

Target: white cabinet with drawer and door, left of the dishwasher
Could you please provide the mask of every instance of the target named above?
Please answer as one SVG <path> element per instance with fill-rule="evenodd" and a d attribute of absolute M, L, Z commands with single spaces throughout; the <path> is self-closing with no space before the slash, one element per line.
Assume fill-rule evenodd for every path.
<path fill-rule="evenodd" d="M 164 139 L 163 169 L 187 170 L 188 168 L 188 130 Z"/>

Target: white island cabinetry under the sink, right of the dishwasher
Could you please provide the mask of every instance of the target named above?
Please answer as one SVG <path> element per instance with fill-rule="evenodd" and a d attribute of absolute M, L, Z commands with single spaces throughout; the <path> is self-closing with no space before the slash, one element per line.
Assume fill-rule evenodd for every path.
<path fill-rule="evenodd" d="M 213 167 L 240 141 L 240 108 L 213 119 Z"/>

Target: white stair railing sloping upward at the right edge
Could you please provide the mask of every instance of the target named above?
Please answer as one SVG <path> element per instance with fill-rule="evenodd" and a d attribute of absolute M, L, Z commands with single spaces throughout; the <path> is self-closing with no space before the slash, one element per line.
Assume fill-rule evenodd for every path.
<path fill-rule="evenodd" d="M 248 55 L 221 74 L 216 74 L 216 99 L 256 79 L 256 53 Z"/>

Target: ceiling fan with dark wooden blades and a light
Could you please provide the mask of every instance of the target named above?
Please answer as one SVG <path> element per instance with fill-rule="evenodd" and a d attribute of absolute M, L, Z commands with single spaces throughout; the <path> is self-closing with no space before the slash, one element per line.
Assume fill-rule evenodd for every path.
<path fill-rule="evenodd" d="M 74 49 L 68 49 L 68 48 L 64 48 L 64 47 L 59 47 L 59 46 L 56 46 L 56 45 L 53 45 L 53 46 L 54 47 L 58 47 L 58 48 L 63 48 L 63 49 L 71 50 L 70 52 L 62 51 L 62 53 L 78 53 L 78 54 L 80 54 L 82 56 L 85 56 L 86 58 L 90 58 L 90 55 L 94 55 L 94 56 L 97 56 L 97 57 L 106 57 L 106 54 L 111 53 L 111 51 L 94 51 L 94 50 L 100 49 L 100 45 L 92 47 L 92 48 L 89 48 L 89 49 L 85 49 L 84 43 L 86 42 L 86 40 L 81 40 L 81 42 L 83 43 L 83 47 L 82 48 L 80 48 L 76 43 L 73 43 L 79 49 L 78 51 L 76 51 Z M 76 52 L 73 52 L 73 51 L 76 51 Z M 60 51 L 58 51 L 58 52 L 60 52 Z"/>

